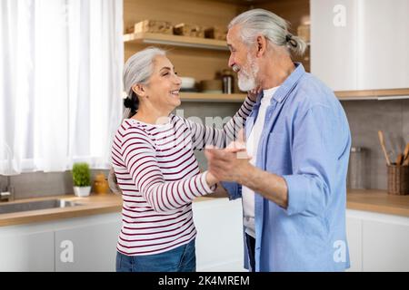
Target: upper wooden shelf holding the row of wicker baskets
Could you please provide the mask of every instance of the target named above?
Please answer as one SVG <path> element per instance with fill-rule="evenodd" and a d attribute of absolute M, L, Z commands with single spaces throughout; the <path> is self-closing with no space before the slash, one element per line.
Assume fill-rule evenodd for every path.
<path fill-rule="evenodd" d="M 153 43 L 228 51 L 227 43 L 222 40 L 169 34 L 125 34 L 124 43 Z"/>

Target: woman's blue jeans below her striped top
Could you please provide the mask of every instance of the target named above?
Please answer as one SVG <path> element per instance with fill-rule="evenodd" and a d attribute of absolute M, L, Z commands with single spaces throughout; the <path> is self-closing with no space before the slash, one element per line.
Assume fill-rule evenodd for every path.
<path fill-rule="evenodd" d="M 195 239 L 160 254 L 126 256 L 116 253 L 116 272 L 195 272 L 195 270 Z"/>

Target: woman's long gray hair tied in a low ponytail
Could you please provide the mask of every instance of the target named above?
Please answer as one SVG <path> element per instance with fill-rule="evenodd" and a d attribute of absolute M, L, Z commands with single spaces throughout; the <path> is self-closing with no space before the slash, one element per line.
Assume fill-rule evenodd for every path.
<path fill-rule="evenodd" d="M 135 84 L 147 84 L 152 73 L 154 73 L 154 60 L 158 55 L 166 55 L 166 52 L 157 47 L 148 47 L 143 51 L 132 55 L 125 63 L 124 66 L 124 88 L 127 98 L 138 102 L 137 96 L 132 87 Z M 133 98 L 134 97 L 134 98 Z M 137 107 L 137 106 L 136 106 Z M 135 114 L 135 111 L 130 108 L 126 108 L 124 111 L 123 119 L 131 118 Z M 115 177 L 114 168 L 111 167 L 108 175 L 109 188 L 116 194 L 121 194 L 122 190 L 118 186 L 118 182 Z"/>

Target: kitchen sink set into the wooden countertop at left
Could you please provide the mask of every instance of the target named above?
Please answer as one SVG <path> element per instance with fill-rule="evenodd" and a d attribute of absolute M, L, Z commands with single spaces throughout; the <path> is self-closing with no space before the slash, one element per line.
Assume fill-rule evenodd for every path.
<path fill-rule="evenodd" d="M 70 208 L 81 204 L 65 199 L 47 199 L 39 201 L 19 202 L 11 204 L 0 204 L 0 215 L 20 211 L 31 211 L 47 208 Z"/>

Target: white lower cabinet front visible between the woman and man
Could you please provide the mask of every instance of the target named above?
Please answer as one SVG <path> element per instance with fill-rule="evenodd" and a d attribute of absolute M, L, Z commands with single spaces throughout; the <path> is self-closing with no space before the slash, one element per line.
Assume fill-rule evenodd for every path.
<path fill-rule="evenodd" d="M 197 271 L 244 269 L 242 200 L 217 198 L 193 203 Z"/>

